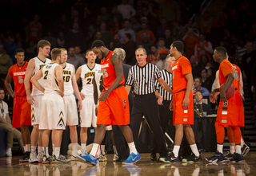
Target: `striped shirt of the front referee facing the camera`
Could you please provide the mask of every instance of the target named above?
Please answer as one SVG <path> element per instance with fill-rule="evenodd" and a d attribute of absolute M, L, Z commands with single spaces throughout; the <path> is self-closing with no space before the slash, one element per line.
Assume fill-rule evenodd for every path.
<path fill-rule="evenodd" d="M 155 92 L 155 81 L 161 77 L 156 65 L 146 63 L 143 67 L 134 65 L 130 68 L 127 85 L 134 85 L 136 95 L 146 95 Z"/>

